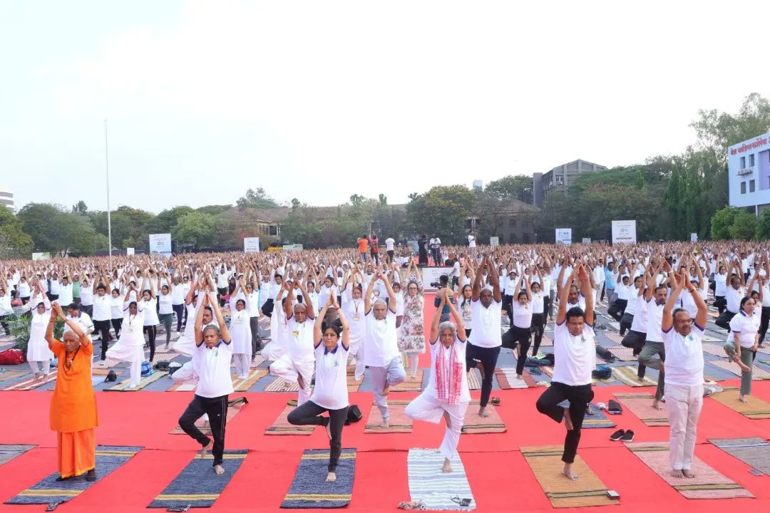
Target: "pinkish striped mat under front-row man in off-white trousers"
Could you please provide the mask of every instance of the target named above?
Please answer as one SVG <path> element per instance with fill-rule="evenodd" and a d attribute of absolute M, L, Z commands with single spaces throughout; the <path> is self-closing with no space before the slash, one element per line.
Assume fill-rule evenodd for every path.
<path fill-rule="evenodd" d="M 750 491 L 721 475 L 695 456 L 692 458 L 691 467 L 695 478 L 672 478 L 668 442 L 631 442 L 626 444 L 626 447 L 685 498 L 754 497 Z"/>

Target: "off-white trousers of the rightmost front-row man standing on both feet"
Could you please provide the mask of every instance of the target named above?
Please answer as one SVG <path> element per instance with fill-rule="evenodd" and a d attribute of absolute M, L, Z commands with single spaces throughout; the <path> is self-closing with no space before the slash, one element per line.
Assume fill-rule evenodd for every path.
<path fill-rule="evenodd" d="M 671 469 L 690 470 L 695 453 L 695 435 L 703 407 L 703 385 L 665 384 L 668 424 L 671 425 L 669 456 Z"/>

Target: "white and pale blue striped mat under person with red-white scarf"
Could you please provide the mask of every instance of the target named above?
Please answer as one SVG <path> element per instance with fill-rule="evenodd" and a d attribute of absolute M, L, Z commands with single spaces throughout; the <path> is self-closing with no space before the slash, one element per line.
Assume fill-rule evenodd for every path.
<path fill-rule="evenodd" d="M 452 458 L 452 472 L 444 474 L 444 456 L 437 449 L 410 449 L 407 456 L 409 495 L 412 501 L 423 501 L 426 509 L 470 511 L 476 500 L 470 491 L 460 455 Z M 469 498 L 470 505 L 460 506 L 453 497 Z"/>

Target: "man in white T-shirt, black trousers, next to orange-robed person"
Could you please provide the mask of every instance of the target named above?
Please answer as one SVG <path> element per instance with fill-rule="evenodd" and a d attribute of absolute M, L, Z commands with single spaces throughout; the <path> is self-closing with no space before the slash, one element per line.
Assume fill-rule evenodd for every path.
<path fill-rule="evenodd" d="M 219 328 L 206 326 L 203 328 L 203 311 L 206 306 L 212 306 L 216 312 Z M 209 292 L 203 296 L 201 308 L 196 315 L 196 348 L 192 353 L 192 365 L 198 376 L 198 385 L 192 401 L 182 416 L 179 417 L 179 427 L 202 446 L 201 458 L 206 457 L 209 437 L 195 425 L 204 414 L 209 417 L 211 434 L 214 438 L 212 455 L 213 468 L 216 474 L 223 474 L 223 454 L 225 451 L 225 428 L 227 424 L 228 396 L 233 393 L 233 381 L 230 377 L 230 361 L 233 359 L 233 346 L 230 332 L 225 324 L 222 310 L 216 301 L 216 294 Z"/>

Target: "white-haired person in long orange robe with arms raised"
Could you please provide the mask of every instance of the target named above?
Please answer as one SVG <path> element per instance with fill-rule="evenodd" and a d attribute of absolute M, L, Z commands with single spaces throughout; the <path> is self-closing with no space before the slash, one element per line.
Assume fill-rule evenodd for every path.
<path fill-rule="evenodd" d="M 91 359 L 93 345 L 80 325 L 66 318 L 58 303 L 52 304 L 51 316 L 45 340 L 59 358 L 56 386 L 51 398 L 51 429 L 57 432 L 57 455 L 59 478 L 62 481 L 85 473 L 88 481 L 96 480 L 95 426 L 99 425 L 96 415 L 96 395 L 91 383 Z M 65 321 L 62 341 L 53 338 L 56 318 Z"/>

